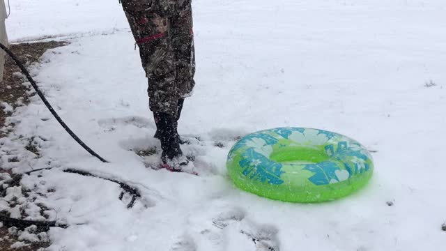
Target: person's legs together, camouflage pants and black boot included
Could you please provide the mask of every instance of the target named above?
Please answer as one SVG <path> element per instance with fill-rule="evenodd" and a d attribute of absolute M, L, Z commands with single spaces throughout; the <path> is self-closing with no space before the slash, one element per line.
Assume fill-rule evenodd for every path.
<path fill-rule="evenodd" d="M 183 99 L 190 96 L 194 87 L 190 3 L 187 8 L 181 8 L 180 15 L 177 15 L 176 6 L 173 5 L 177 1 L 174 0 L 160 1 L 160 6 L 146 4 L 148 1 L 125 2 L 128 4 L 123 1 L 124 10 L 148 78 L 149 106 L 157 124 L 162 160 L 166 164 L 176 159 L 175 167 L 185 165 L 187 159 L 179 146 L 177 121 Z M 169 8 L 160 8 L 162 6 Z"/>

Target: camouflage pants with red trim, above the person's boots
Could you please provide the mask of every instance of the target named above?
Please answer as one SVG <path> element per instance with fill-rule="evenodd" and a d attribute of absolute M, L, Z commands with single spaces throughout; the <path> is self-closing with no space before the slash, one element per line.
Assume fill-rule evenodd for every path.
<path fill-rule="evenodd" d="M 121 0 L 137 45 L 153 112 L 176 116 L 178 100 L 194 88 L 190 0 Z"/>

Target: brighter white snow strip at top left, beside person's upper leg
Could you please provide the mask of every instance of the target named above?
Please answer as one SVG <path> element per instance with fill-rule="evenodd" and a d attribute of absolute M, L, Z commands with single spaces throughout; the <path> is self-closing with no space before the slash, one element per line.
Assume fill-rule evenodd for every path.
<path fill-rule="evenodd" d="M 90 36 L 128 27 L 118 0 L 10 0 L 10 7 L 6 29 L 13 42 L 75 33 Z"/>

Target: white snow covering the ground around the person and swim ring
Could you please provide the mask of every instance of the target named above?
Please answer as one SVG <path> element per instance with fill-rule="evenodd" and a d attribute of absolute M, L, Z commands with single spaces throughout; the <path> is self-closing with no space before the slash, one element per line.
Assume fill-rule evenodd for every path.
<path fill-rule="evenodd" d="M 50 231 L 50 250 L 444 250 L 446 2 L 376 2 L 194 0 L 197 88 L 179 129 L 203 139 L 185 146 L 203 173 L 191 176 L 147 169 L 129 151 L 159 143 L 118 1 L 12 0 L 13 40 L 79 34 L 33 73 L 66 123 L 111 163 L 77 146 L 33 97 L 10 118 L 22 138 L 1 139 L 2 160 L 20 162 L 3 166 L 85 169 L 143 194 L 128 210 L 114 183 L 54 169 L 25 177 L 37 192 L 55 191 L 40 200 L 71 226 Z M 378 151 L 374 178 L 325 204 L 234 188 L 225 167 L 233 138 L 277 126 L 357 139 Z M 13 151 L 32 137 L 42 158 Z"/>

